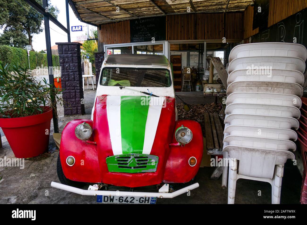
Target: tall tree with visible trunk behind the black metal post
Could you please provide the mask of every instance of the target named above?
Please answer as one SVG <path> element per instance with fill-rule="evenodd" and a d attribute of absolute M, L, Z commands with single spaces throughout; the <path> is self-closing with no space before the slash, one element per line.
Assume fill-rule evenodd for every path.
<path fill-rule="evenodd" d="M 35 1 L 43 5 L 42 0 Z M 32 46 L 33 34 L 39 34 L 43 31 L 41 24 L 44 16 L 28 3 L 20 0 L 10 2 L 0 0 L 0 9 L 0 28 L 4 28 L 4 31 L 23 32 L 28 36 L 28 44 Z M 46 10 L 57 18 L 59 9 L 56 6 L 49 5 Z"/>

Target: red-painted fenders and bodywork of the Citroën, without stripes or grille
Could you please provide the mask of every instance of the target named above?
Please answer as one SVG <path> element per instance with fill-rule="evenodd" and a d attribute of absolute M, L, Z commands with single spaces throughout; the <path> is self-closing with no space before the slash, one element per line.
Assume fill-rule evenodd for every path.
<path fill-rule="evenodd" d="M 157 170 L 144 173 L 109 172 L 106 158 L 113 156 L 108 119 L 107 95 L 98 96 L 95 101 L 93 121 L 76 119 L 69 122 L 62 133 L 60 160 L 64 175 L 72 181 L 105 183 L 115 186 L 140 187 L 165 183 L 189 182 L 196 175 L 203 155 L 203 135 L 200 124 L 191 120 L 175 120 L 176 103 L 166 97 L 166 107 L 161 109 L 156 135 L 150 154 L 159 157 Z M 92 137 L 87 141 L 78 139 L 76 126 L 86 122 L 92 128 Z M 177 143 L 175 131 L 184 125 L 192 134 L 192 140 L 185 145 Z M 68 156 L 75 158 L 75 164 L 66 163 Z M 189 159 L 196 158 L 196 165 L 190 166 Z"/>

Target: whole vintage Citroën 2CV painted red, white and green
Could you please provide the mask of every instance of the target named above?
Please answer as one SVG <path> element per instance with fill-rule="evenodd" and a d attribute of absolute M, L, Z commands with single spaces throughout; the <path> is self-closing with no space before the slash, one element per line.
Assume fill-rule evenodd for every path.
<path fill-rule="evenodd" d="M 57 163 L 62 184 L 52 182 L 51 186 L 97 195 L 98 202 L 155 203 L 157 197 L 173 198 L 199 186 L 194 183 L 173 191 L 169 183 L 191 181 L 202 155 L 200 124 L 177 120 L 167 58 L 108 55 L 91 120 L 72 120 L 63 130 Z M 76 187 L 79 182 L 95 185 L 84 190 Z M 111 191 L 108 185 L 161 188 L 157 192 Z"/>

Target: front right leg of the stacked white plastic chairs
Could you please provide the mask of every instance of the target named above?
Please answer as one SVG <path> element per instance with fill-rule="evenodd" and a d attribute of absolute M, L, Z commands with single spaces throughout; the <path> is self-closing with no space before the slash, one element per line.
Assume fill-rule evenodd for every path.
<path fill-rule="evenodd" d="M 284 164 L 276 165 L 272 182 L 272 204 L 280 204 L 280 192 L 282 190 L 282 177 Z"/>

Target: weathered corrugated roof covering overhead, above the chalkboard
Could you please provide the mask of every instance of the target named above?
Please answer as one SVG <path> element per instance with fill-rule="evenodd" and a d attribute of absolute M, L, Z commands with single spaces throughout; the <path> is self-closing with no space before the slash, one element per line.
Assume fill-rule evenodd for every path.
<path fill-rule="evenodd" d="M 243 11 L 251 0 L 69 0 L 76 16 L 91 24 L 167 14 Z"/>

